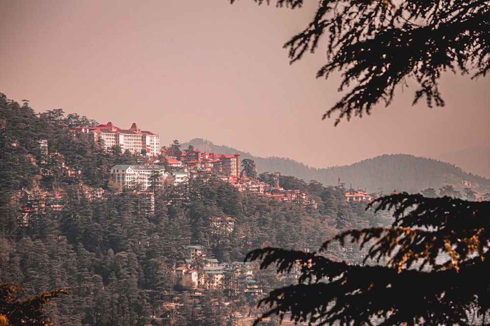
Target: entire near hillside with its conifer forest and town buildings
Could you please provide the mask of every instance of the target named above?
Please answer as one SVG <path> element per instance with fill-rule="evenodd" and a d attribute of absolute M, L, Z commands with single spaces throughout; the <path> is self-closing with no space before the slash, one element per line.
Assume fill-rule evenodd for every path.
<path fill-rule="evenodd" d="M 198 142 L 181 149 L 177 140 L 161 146 L 158 134 L 136 123 L 125 130 L 76 114 L 63 119 L 61 109 L 34 115 L 9 105 L 12 118 L 4 122 L 12 127 L 0 139 L 8 148 L 1 199 L 9 236 L 0 253 L 11 267 L 1 275 L 35 291 L 82 284 L 71 296 L 90 300 L 70 306 L 79 325 L 199 325 L 209 316 L 221 325 L 250 325 L 261 311 L 252 308 L 257 299 L 297 281 L 301 266 L 278 277 L 254 258 L 244 261 L 247 253 L 274 246 L 310 253 L 352 227 L 386 227 L 390 215 L 367 204 L 383 194 L 406 195 L 391 187 L 379 193 L 367 191 L 372 185 L 346 187 L 340 176 L 323 186 L 258 174 L 248 153 L 194 148 Z M 36 128 L 19 130 L 19 121 Z M 472 191 L 478 178 L 451 181 L 441 179 L 439 194 L 427 187 L 420 195 L 473 202 L 490 196 Z M 332 246 L 328 255 L 359 264 L 364 254 L 348 245 Z M 53 280 L 59 285 L 47 285 Z"/>

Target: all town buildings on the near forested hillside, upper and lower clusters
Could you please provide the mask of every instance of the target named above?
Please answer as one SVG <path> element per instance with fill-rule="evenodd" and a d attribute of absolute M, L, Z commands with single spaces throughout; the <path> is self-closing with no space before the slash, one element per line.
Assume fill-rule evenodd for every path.
<path fill-rule="evenodd" d="M 170 153 L 160 149 L 159 135 L 140 130 L 135 123 L 129 130 L 115 127 L 111 122 L 93 128 L 76 127 L 70 130 L 74 134 L 87 133 L 89 139 L 98 144 L 105 151 L 118 148 L 118 151 L 129 152 L 133 155 L 147 157 L 145 163 L 116 164 L 110 169 L 111 181 L 119 192 L 136 192 L 145 199 L 143 205 L 147 215 L 155 213 L 155 185 L 162 187 L 165 184 L 178 185 L 189 182 L 195 178 L 221 179 L 233 186 L 241 193 L 262 196 L 279 201 L 289 201 L 302 206 L 316 207 L 316 202 L 309 199 L 299 190 L 285 190 L 279 185 L 279 173 L 274 174 L 274 184 L 261 182 L 257 179 L 256 167 L 247 175 L 241 169 L 240 153 L 216 154 L 213 152 L 180 151 Z M 81 175 L 80 167 L 70 167 L 65 164 L 63 155 L 58 152 L 49 153 L 46 141 L 40 142 L 43 155 L 55 164 L 47 165 L 41 170 L 42 175 L 51 175 L 56 178 L 76 179 Z M 102 188 L 83 186 L 83 193 L 88 200 L 100 199 L 104 196 Z M 50 193 L 46 191 L 25 190 L 21 201 L 23 207 L 19 213 L 17 223 L 20 227 L 29 227 L 43 218 L 47 212 L 63 210 L 66 195 L 63 193 Z M 226 233 L 231 235 L 234 230 L 233 217 L 212 217 L 210 225 L 212 233 Z M 220 262 L 214 258 L 206 257 L 206 248 L 201 244 L 187 245 L 182 249 L 184 260 L 180 266 L 175 267 L 175 275 L 182 284 L 191 288 L 224 288 L 232 282 L 242 284 L 235 286 L 236 293 L 258 295 L 262 293 L 260 281 L 254 277 L 254 268 L 250 262 L 229 261 Z M 218 303 L 217 303 L 218 304 Z"/>

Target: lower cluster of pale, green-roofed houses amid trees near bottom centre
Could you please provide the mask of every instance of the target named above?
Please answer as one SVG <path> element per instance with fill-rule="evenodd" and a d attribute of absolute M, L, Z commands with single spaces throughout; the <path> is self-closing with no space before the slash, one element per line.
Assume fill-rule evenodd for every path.
<path fill-rule="evenodd" d="M 182 284 L 194 288 L 228 289 L 233 294 L 262 293 L 260 282 L 255 279 L 252 262 L 219 262 L 206 257 L 206 250 L 200 244 L 184 246 L 185 259 L 182 266 L 175 268 L 175 274 Z"/>

